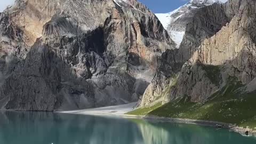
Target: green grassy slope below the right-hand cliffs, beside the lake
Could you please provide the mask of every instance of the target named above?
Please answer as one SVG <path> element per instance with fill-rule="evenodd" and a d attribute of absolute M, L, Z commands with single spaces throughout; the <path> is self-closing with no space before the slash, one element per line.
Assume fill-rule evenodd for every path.
<path fill-rule="evenodd" d="M 151 107 L 131 111 L 131 115 L 154 115 L 171 118 L 189 118 L 236 124 L 256 130 L 256 94 L 241 94 L 242 85 L 233 81 L 213 94 L 206 102 L 189 102 L 183 97 L 171 103 L 157 103 Z"/>

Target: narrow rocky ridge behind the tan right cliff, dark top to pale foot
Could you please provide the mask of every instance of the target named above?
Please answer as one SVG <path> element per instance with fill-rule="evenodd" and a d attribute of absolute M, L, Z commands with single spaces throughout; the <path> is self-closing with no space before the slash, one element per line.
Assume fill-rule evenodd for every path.
<path fill-rule="evenodd" d="M 162 54 L 156 75 L 143 95 L 139 106 L 146 106 L 156 99 L 162 100 L 168 94 L 170 87 L 176 83 L 176 77 L 183 64 L 189 60 L 203 40 L 216 34 L 228 23 L 222 4 L 213 4 L 198 9 L 193 20 L 187 24 L 180 49 L 167 50 Z M 195 68 L 197 69 L 197 68 Z M 147 101 L 147 102 L 144 102 Z"/>

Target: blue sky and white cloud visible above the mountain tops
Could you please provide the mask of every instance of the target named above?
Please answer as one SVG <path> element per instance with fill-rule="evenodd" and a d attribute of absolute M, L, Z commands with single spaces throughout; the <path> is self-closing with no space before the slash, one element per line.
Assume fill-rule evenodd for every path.
<path fill-rule="evenodd" d="M 181 5 L 187 3 L 186 0 L 138 0 L 145 4 L 154 13 L 171 12 Z M 7 5 L 10 5 L 14 0 L 0 0 L 0 12 L 2 12 Z"/>

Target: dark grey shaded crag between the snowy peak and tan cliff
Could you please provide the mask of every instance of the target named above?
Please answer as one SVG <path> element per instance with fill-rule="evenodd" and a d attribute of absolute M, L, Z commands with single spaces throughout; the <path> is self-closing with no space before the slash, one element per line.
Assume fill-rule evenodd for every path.
<path fill-rule="evenodd" d="M 216 34 L 228 22 L 222 4 L 213 4 L 198 10 L 193 20 L 188 23 L 180 44 L 182 61 L 189 60 L 205 38 Z"/>

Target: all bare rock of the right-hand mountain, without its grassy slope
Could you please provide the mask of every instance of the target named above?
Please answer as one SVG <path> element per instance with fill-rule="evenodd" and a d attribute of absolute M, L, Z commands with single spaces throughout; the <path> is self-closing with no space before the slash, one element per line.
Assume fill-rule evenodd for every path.
<path fill-rule="evenodd" d="M 181 47 L 184 45 L 188 50 L 189 60 L 177 72 L 172 69 L 177 63 L 174 59 L 177 57 L 175 53 L 179 51 L 164 53 L 162 61 L 173 60 L 166 64 L 169 65 L 171 73 L 167 73 L 167 70 L 158 71 L 158 76 L 146 90 L 139 106 L 150 105 L 157 101 L 156 99 L 167 103 L 182 97 L 189 98 L 191 102 L 202 102 L 232 83 L 230 79 L 241 83 L 236 89 L 238 95 L 255 91 L 252 88 L 256 76 L 256 47 L 253 33 L 256 20 L 255 5 L 256 2 L 251 0 L 230 0 L 223 5 L 207 6 L 202 9 L 204 13 L 195 14 L 196 23 L 187 25 L 187 33 L 183 38 L 183 44 L 181 43 Z M 214 14 L 207 15 L 208 10 Z M 199 27 L 198 31 L 193 31 L 193 28 L 201 25 L 198 23 L 206 25 L 201 29 Z M 194 38 L 191 38 L 191 34 L 197 35 L 197 43 L 191 43 L 191 39 Z M 190 40 L 187 41 L 186 38 Z M 180 65 L 180 62 L 178 64 Z"/>

